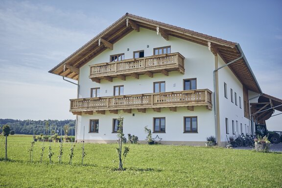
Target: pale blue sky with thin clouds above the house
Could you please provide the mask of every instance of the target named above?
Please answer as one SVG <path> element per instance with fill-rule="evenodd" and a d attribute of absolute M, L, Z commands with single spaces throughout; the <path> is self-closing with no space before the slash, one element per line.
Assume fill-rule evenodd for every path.
<path fill-rule="evenodd" d="M 263 93 L 282 99 L 281 10 L 281 0 L 0 0 L 0 118 L 74 119 L 76 86 L 48 71 L 126 12 L 239 43 Z"/>

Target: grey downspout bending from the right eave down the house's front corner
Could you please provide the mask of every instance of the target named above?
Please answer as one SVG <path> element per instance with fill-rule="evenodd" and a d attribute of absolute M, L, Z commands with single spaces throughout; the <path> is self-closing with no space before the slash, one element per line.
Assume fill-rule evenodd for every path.
<path fill-rule="evenodd" d="M 236 44 L 237 46 L 238 44 Z M 214 126 L 215 126 L 215 139 L 216 139 L 216 142 L 218 140 L 218 135 L 217 135 L 217 122 L 218 122 L 218 119 L 217 119 L 217 100 L 216 100 L 216 96 L 217 96 L 217 93 L 216 93 L 216 79 L 215 79 L 215 72 L 226 67 L 226 66 L 229 66 L 230 64 L 232 63 L 235 63 L 236 61 L 238 61 L 239 59 L 243 58 L 243 54 L 241 53 L 241 56 L 238 57 L 237 59 L 225 64 L 224 66 L 221 66 L 217 69 L 215 69 L 213 71 L 213 101 L 214 101 Z"/>

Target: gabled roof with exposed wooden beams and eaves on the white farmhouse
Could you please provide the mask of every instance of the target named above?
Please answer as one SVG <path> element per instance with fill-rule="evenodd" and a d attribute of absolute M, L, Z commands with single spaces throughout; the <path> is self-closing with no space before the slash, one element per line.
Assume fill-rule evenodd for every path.
<path fill-rule="evenodd" d="M 174 36 L 211 47 L 212 53 L 219 54 L 225 63 L 229 63 L 242 55 L 242 51 L 237 43 L 126 13 L 49 72 L 77 80 L 79 75 L 78 69 L 81 66 L 105 49 L 113 47 L 113 44 L 131 31 L 139 31 L 140 27 L 154 31 L 158 30 L 165 40 L 169 40 L 169 36 Z M 229 67 L 248 90 L 261 93 L 258 82 L 245 57 L 229 65 Z"/>

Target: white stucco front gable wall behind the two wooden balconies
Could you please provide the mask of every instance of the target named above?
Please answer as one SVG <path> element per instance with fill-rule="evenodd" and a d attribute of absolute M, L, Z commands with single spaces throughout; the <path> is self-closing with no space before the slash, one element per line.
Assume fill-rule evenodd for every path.
<path fill-rule="evenodd" d="M 147 48 L 147 45 L 149 47 Z M 101 80 L 95 83 L 89 78 L 89 65 L 109 62 L 110 55 L 124 53 L 125 59 L 133 57 L 133 51 L 144 50 L 144 56 L 153 55 L 153 48 L 171 46 L 171 53 L 179 52 L 185 57 L 185 74 L 178 71 L 169 72 L 169 76 L 162 73 L 154 74 L 153 78 L 140 75 L 140 79 L 126 77 L 126 80 L 114 78 L 113 82 Z M 129 51 L 127 51 L 129 48 Z M 114 86 L 124 85 L 124 94 L 153 93 L 153 82 L 165 81 L 165 91 L 182 91 L 183 79 L 197 78 L 197 89 L 209 89 L 213 91 L 212 71 L 214 70 L 214 56 L 208 47 L 197 45 L 179 38 L 169 36 L 169 41 L 164 40 L 156 32 L 140 28 L 140 32 L 132 31 L 114 44 L 114 49 L 107 49 L 86 65 L 80 68 L 79 98 L 90 97 L 90 88 L 100 88 L 100 96 L 112 96 Z M 120 113 L 121 111 L 119 111 Z M 135 114 L 135 116 L 133 116 Z M 198 133 L 183 133 L 184 117 L 197 116 Z M 163 141 L 206 141 L 206 137 L 215 135 L 214 112 L 206 107 L 194 107 L 194 111 L 187 108 L 177 108 L 177 112 L 163 108 L 161 113 L 147 109 L 146 113 L 132 110 L 132 114 L 123 113 L 124 129 L 128 133 L 136 135 L 139 140 L 145 140 L 144 126 L 153 130 L 153 118 L 165 117 L 165 133 L 158 133 Z M 82 139 L 83 126 L 85 126 L 85 140 L 117 140 L 117 134 L 112 133 L 113 118 L 116 114 L 106 112 L 105 115 L 78 116 L 77 140 Z M 99 119 L 99 133 L 89 132 L 89 120 Z M 153 134 L 155 137 L 157 134 Z"/>

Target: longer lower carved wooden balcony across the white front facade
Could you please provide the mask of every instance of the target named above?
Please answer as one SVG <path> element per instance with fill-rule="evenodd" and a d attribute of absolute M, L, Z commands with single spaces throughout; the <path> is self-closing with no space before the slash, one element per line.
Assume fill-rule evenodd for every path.
<path fill-rule="evenodd" d="M 161 112 L 161 108 L 177 111 L 177 107 L 187 107 L 193 111 L 194 106 L 206 106 L 211 110 L 211 91 L 204 89 L 71 99 L 70 112 L 74 115 L 82 115 L 82 112 L 90 115 L 93 112 L 105 114 L 105 111 L 118 114 L 118 110 L 131 113 L 132 109 L 137 109 L 145 113 L 148 108 Z"/>

